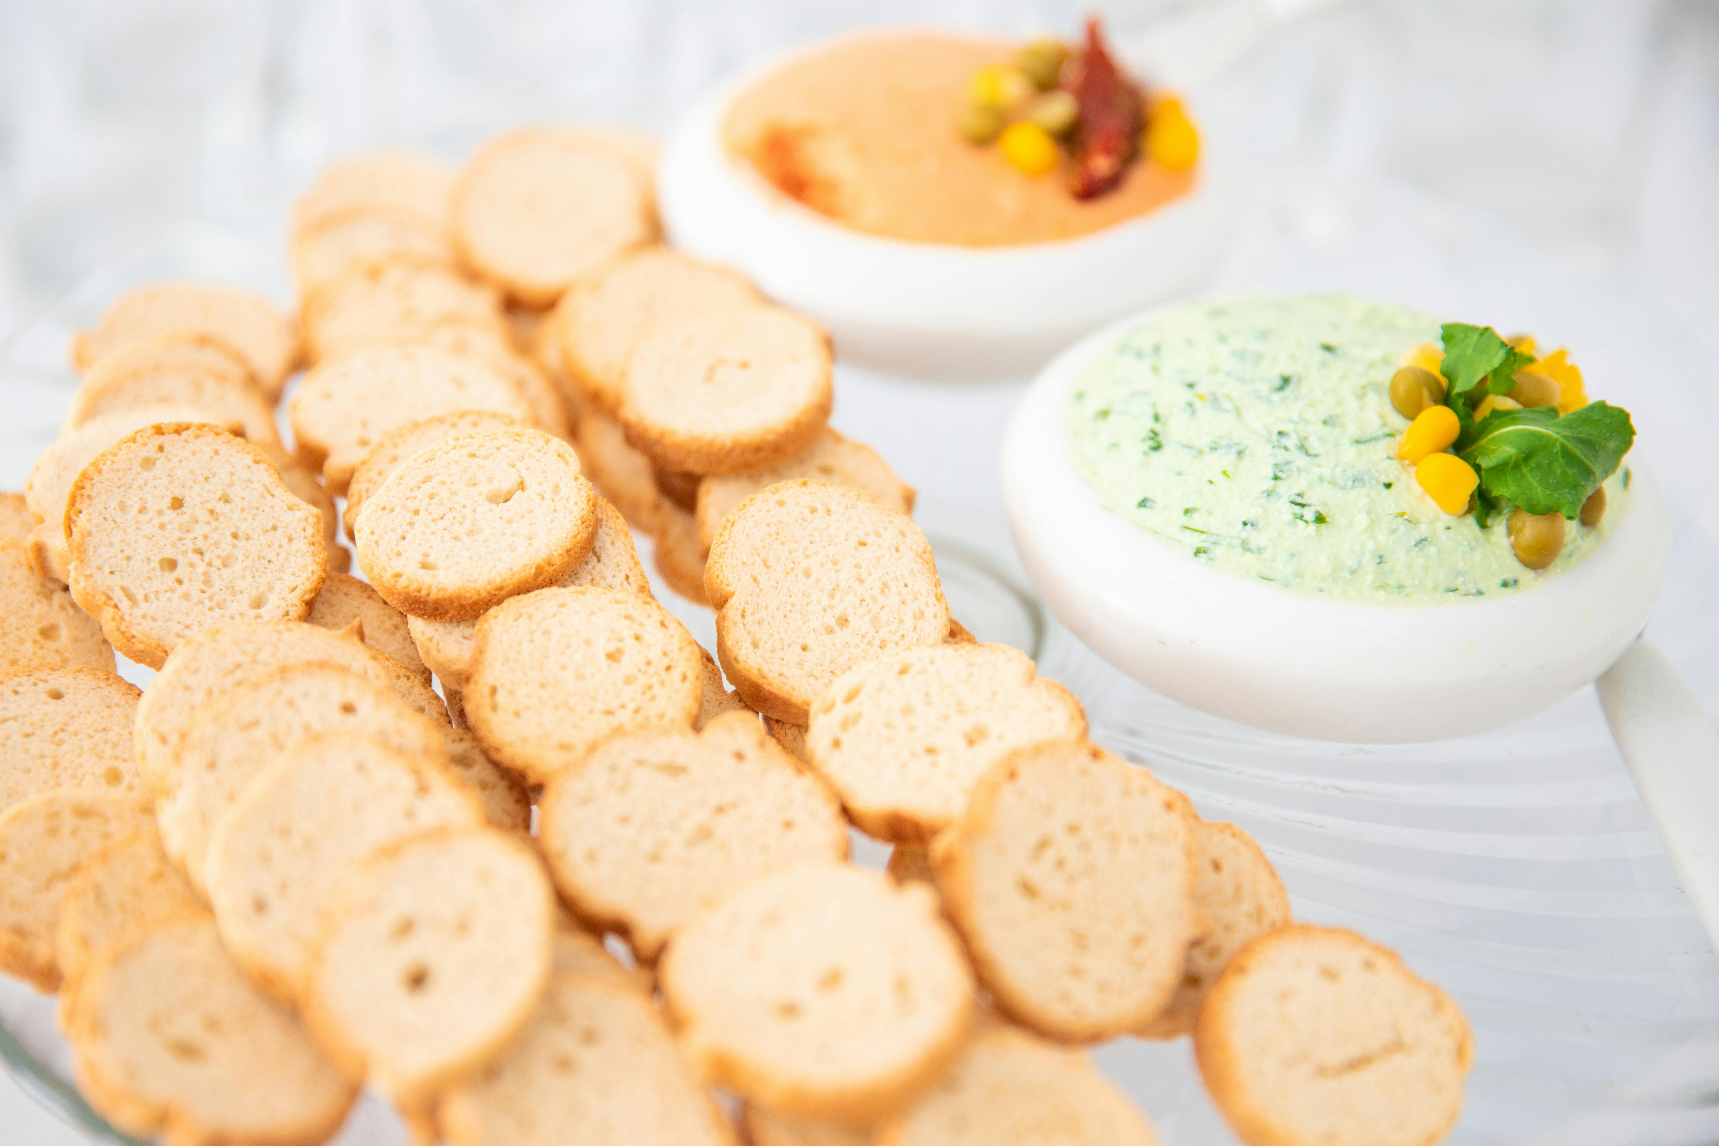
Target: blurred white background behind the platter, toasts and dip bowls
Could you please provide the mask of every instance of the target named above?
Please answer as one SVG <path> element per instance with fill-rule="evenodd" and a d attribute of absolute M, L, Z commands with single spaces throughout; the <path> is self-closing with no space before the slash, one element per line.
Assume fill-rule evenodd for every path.
<path fill-rule="evenodd" d="M 1100 10 L 1126 36 L 1188 7 L 0 0 L 0 332 L 184 220 L 278 229 L 294 189 L 354 148 L 457 160 L 521 120 L 662 131 L 732 69 L 856 24 L 1069 34 Z M 1226 285 L 1293 278 L 1294 251 L 1348 235 L 1356 289 L 1415 296 L 1430 270 L 1365 246 L 1367 213 L 1413 210 L 1422 237 L 1449 230 L 1442 249 L 1466 282 L 1626 304 L 1669 349 L 1638 368 L 1710 393 L 1719 2 L 1348 0 L 1284 24 L 1193 96 L 1253 201 Z M 1552 273 L 1518 275 L 1514 251 Z M 1360 273 L 1356 259 L 1384 266 Z M 1604 308 L 1568 313 L 1606 321 Z M 1710 457 L 1712 430 L 1690 433 L 1697 460 Z M 1719 536 L 1719 510 L 1704 521 Z M 0 1143 L 76 1141 L 0 1081 Z"/>

